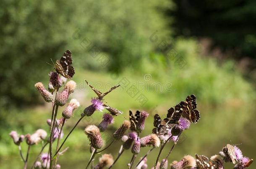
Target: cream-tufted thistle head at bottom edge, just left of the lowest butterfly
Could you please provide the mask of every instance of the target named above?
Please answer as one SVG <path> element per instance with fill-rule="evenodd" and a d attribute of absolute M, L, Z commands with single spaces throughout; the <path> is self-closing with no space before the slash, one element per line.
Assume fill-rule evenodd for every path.
<path fill-rule="evenodd" d="M 196 167 L 196 160 L 193 156 L 184 156 L 179 162 L 173 161 L 171 164 L 171 169 L 185 169 L 186 167 Z"/>

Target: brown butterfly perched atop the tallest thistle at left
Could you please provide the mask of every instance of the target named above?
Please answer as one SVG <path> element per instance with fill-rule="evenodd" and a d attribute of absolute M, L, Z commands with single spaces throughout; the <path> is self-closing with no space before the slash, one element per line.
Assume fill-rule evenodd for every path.
<path fill-rule="evenodd" d="M 72 64 L 72 54 L 70 50 L 65 51 L 60 60 L 56 61 L 54 66 L 57 73 L 60 73 L 65 78 L 72 78 L 75 74 L 75 69 Z"/>

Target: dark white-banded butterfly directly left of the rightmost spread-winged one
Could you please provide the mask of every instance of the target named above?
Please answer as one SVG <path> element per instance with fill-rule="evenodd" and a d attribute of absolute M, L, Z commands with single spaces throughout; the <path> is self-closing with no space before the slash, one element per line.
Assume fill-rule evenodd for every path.
<path fill-rule="evenodd" d="M 177 104 L 175 108 L 171 107 L 167 111 L 167 116 L 164 120 L 161 121 L 161 125 L 166 124 L 177 124 L 183 110 L 180 104 Z"/>

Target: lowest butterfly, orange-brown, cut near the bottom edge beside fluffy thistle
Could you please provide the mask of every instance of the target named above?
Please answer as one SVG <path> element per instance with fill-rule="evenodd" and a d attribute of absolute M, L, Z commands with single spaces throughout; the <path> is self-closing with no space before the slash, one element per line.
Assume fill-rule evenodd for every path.
<path fill-rule="evenodd" d="M 204 155 L 196 154 L 196 165 L 198 169 L 219 169 L 219 167 L 212 161 L 208 159 L 208 157 Z"/>

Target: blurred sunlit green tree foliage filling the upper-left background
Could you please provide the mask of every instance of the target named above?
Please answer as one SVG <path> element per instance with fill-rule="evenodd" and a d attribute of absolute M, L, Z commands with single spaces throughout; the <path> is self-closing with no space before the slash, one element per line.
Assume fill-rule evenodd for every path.
<path fill-rule="evenodd" d="M 140 59 L 153 50 L 149 36 L 154 31 L 162 37 L 170 34 L 160 12 L 170 6 L 167 0 L 1 4 L 0 105 L 36 103 L 33 84 L 46 79 L 42 75 L 53 68 L 45 62 L 60 59 L 67 49 L 73 52 L 75 66 L 121 71 L 131 64 L 139 68 Z"/>

